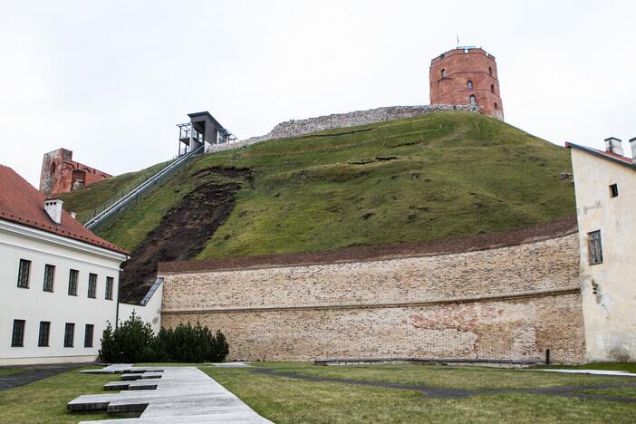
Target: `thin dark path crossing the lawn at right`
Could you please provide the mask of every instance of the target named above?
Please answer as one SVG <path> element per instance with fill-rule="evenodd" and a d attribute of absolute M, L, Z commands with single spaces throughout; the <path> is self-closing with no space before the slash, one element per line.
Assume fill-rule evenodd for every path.
<path fill-rule="evenodd" d="M 497 395 L 504 393 L 531 393 L 531 394 L 544 394 L 554 396 L 565 396 L 579 399 L 589 400 L 612 400 L 626 403 L 636 403 L 636 398 L 622 398 L 619 396 L 605 396 L 596 395 L 591 393 L 578 393 L 579 390 L 594 390 L 594 389 L 622 389 L 626 387 L 636 388 L 636 382 L 630 383 L 603 383 L 603 384 L 591 384 L 591 385 L 577 385 L 577 386 L 556 386 L 548 388 L 519 388 L 519 389 L 496 389 L 496 390 L 469 390 L 469 389 L 450 389 L 431 386 L 419 386 L 414 384 L 400 384 L 389 383 L 382 381 L 364 381 L 364 380 L 352 380 L 352 379 L 338 379 L 334 377 L 316 377 L 310 375 L 294 374 L 292 372 L 277 371 L 275 368 L 255 368 L 252 372 L 258 374 L 266 374 L 274 377 L 286 377 L 288 379 L 304 380 L 304 381 L 320 381 L 320 382 L 335 382 L 342 384 L 353 384 L 357 386 L 377 387 L 383 389 L 400 389 L 400 390 L 419 390 L 429 398 L 466 398 L 468 396 L 480 396 L 480 395 Z"/>

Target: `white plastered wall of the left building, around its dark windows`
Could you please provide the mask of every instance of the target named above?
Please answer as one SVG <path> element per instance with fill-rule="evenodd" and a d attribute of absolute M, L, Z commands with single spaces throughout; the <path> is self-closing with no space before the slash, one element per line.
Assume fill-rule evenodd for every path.
<path fill-rule="evenodd" d="M 94 361 L 101 333 L 114 324 L 120 255 L 41 230 L 0 220 L 0 364 Z M 31 261 L 29 288 L 17 286 L 20 259 Z M 54 265 L 53 292 L 43 291 L 44 265 Z M 79 271 L 77 295 L 68 294 L 69 271 Z M 97 297 L 88 297 L 89 273 L 97 274 Z M 113 299 L 105 299 L 106 277 Z M 15 319 L 25 320 L 24 346 L 12 347 Z M 40 322 L 51 323 L 49 346 L 39 347 Z M 65 323 L 75 323 L 73 347 L 64 347 Z M 93 324 L 92 347 L 84 347 L 86 324 Z"/>

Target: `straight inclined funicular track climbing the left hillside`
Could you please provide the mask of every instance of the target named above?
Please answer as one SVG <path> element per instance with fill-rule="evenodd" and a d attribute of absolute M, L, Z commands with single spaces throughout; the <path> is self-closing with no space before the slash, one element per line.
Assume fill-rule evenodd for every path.
<path fill-rule="evenodd" d="M 169 174 L 178 169 L 181 165 L 186 163 L 190 158 L 202 150 L 203 146 L 200 146 L 198 149 L 194 149 L 189 153 L 178 157 L 178 159 L 171 161 L 165 168 L 160 169 L 151 177 L 146 178 L 145 181 L 122 190 L 118 196 L 110 198 L 106 202 L 102 203 L 99 207 L 96 207 L 92 210 L 92 212 L 87 214 L 87 216 L 81 217 L 80 220 L 84 223 L 84 226 L 89 229 L 98 226 L 104 219 L 119 212 L 121 209 L 126 207 L 131 200 L 139 198 L 144 191 L 158 184 L 163 178 L 166 178 Z"/>

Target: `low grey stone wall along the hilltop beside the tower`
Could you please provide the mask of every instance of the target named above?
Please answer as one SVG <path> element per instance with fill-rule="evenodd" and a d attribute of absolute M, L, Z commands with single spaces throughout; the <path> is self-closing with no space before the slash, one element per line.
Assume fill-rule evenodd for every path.
<path fill-rule="evenodd" d="M 275 139 L 297 137 L 316 131 L 334 130 L 337 128 L 356 127 L 385 120 L 401 120 L 416 116 L 427 115 L 436 111 L 470 111 L 480 112 L 478 106 L 433 104 L 423 106 L 390 106 L 385 108 L 370 109 L 368 111 L 352 111 L 348 113 L 334 113 L 332 115 L 319 116 L 306 120 L 286 120 L 274 127 L 264 136 L 252 137 L 234 143 L 210 145 L 207 153 L 239 149 L 252 144 Z"/>

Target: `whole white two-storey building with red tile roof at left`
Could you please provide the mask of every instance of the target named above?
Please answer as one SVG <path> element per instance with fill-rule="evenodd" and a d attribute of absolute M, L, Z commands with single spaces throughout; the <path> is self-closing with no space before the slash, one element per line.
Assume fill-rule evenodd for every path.
<path fill-rule="evenodd" d="M 94 361 L 128 253 L 0 165 L 0 365 Z"/>

